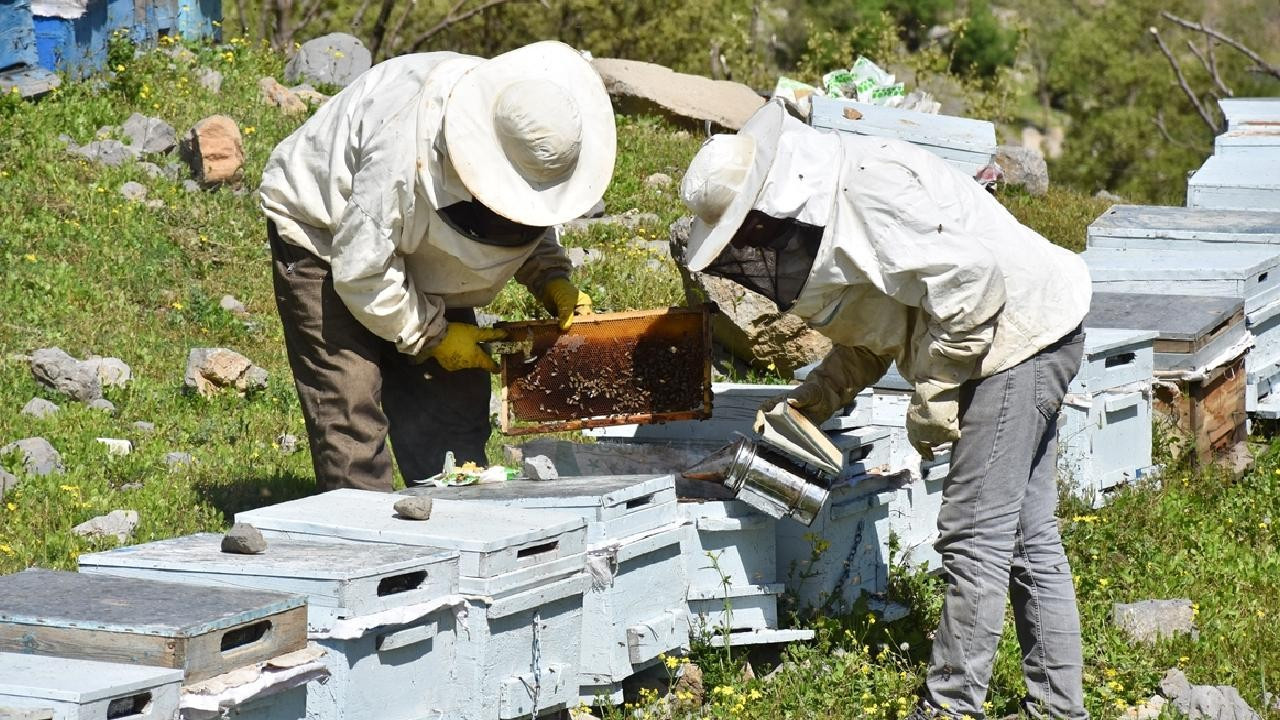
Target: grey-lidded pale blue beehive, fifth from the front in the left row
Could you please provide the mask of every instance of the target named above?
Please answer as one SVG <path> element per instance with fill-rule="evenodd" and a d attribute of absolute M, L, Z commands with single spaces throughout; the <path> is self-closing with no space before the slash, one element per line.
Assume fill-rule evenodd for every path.
<path fill-rule="evenodd" d="M 621 682 L 689 647 L 682 520 L 672 475 L 513 480 L 416 487 L 424 495 L 502 507 L 571 512 L 588 523 L 591 589 L 582 600 L 580 694 L 621 702 Z"/>

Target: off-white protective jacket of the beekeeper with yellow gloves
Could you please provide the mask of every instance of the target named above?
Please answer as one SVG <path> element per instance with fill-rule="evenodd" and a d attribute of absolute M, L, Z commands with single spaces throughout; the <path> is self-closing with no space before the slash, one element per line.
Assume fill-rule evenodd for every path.
<path fill-rule="evenodd" d="M 328 261 L 351 313 L 410 355 L 439 342 L 445 307 L 485 305 L 512 277 L 536 293 L 571 269 L 556 231 L 498 247 L 456 233 L 435 211 L 471 200 L 442 124 L 458 77 L 479 63 L 456 53 L 379 63 L 280 142 L 262 170 L 262 210 L 280 237 Z"/>

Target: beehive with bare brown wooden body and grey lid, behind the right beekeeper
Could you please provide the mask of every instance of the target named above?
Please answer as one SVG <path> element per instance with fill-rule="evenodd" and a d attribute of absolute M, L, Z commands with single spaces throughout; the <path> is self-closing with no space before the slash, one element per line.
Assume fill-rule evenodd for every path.
<path fill-rule="evenodd" d="M 1097 292 L 1084 325 L 1157 333 L 1153 411 L 1207 460 L 1245 430 L 1244 352 L 1252 341 L 1242 306 L 1230 297 Z"/>

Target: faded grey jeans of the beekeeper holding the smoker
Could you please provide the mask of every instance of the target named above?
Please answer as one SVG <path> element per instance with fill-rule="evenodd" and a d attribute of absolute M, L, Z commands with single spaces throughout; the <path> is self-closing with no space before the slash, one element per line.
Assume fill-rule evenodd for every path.
<path fill-rule="evenodd" d="M 1019 365 L 961 387 L 960 439 L 942 487 L 940 538 L 947 578 L 922 706 L 984 716 L 996 646 L 1012 601 L 1032 717 L 1087 717 L 1080 618 L 1062 552 L 1057 413 L 1080 366 L 1084 336 L 1069 333 Z"/>

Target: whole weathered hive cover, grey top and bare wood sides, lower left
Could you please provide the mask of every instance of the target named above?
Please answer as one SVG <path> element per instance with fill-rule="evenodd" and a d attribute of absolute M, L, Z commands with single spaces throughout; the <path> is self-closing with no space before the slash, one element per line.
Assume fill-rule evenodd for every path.
<path fill-rule="evenodd" d="M 60 598 L 51 606 L 50 597 Z M 52 570 L 0 577 L 0 651 L 183 670 L 187 682 L 301 650 L 300 596 Z"/>

